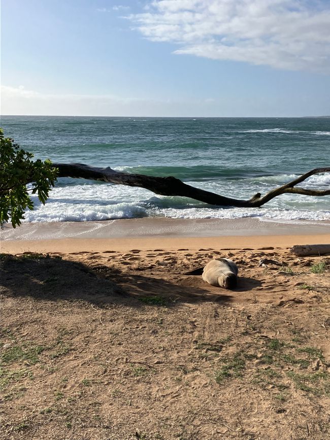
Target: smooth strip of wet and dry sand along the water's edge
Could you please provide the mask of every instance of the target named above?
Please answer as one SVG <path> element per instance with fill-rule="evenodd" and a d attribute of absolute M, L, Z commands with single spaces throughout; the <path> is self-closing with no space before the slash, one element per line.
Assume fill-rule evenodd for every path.
<path fill-rule="evenodd" d="M 330 222 L 143 218 L 23 223 L 1 231 L 1 252 L 107 252 L 131 249 L 240 249 L 330 243 Z"/>

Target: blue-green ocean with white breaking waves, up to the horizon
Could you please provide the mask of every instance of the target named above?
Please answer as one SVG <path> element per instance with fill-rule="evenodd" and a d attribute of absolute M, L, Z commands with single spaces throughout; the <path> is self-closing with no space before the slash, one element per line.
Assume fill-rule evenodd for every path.
<path fill-rule="evenodd" d="M 330 166 L 330 118 L 124 118 L 2 116 L 5 136 L 35 158 L 174 176 L 221 195 L 265 194 L 316 167 Z M 304 187 L 325 189 L 330 173 Z M 60 178 L 26 222 L 141 217 L 330 220 L 330 196 L 285 194 L 257 208 L 221 208 L 146 189 Z"/>

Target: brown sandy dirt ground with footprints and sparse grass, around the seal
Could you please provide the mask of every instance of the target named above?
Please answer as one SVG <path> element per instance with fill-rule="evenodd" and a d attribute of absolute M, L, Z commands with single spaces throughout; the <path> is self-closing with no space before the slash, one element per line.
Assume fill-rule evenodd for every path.
<path fill-rule="evenodd" d="M 219 256 L 239 266 L 235 291 L 184 275 Z M 4 440 L 330 438 L 329 256 L 1 260 Z"/>

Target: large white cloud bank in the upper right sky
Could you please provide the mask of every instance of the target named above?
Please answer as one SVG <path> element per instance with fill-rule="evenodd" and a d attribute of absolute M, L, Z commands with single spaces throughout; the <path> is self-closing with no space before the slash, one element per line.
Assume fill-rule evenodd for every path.
<path fill-rule="evenodd" d="M 130 14 L 174 53 L 330 73 L 330 4 L 319 0 L 154 0 Z"/>

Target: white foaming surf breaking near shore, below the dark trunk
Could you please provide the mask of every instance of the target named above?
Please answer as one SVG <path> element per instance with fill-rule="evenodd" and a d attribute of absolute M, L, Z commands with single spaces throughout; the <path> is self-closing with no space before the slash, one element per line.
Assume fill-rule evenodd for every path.
<path fill-rule="evenodd" d="M 243 182 L 191 182 L 192 186 L 248 199 L 256 192 L 265 194 L 277 184 L 294 179 L 295 175 L 245 179 Z M 330 173 L 311 176 L 308 187 L 323 188 L 330 183 Z M 222 218 L 257 217 L 274 220 L 330 220 L 330 197 L 284 194 L 260 209 L 217 208 L 186 197 L 156 196 L 144 188 L 100 183 L 70 184 L 60 180 L 43 206 L 32 195 L 34 211 L 27 211 L 26 222 L 63 222 L 110 220 L 137 217 Z"/>

